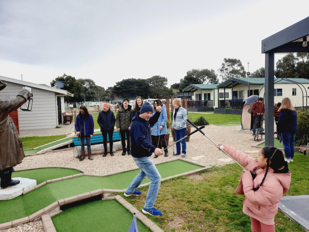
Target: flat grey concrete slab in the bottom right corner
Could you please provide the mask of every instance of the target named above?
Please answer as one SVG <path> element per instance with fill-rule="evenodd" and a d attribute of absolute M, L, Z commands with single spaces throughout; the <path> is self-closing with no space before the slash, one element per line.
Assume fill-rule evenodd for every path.
<path fill-rule="evenodd" d="M 309 195 L 284 196 L 278 208 L 309 231 Z"/>

